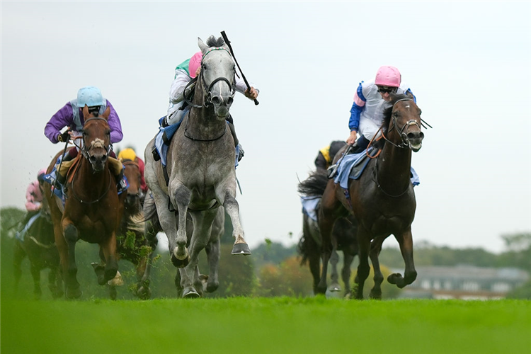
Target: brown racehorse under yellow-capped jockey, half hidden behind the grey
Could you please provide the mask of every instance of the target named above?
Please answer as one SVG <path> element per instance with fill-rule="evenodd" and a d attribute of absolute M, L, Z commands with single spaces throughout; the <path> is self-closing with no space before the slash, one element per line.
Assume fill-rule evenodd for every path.
<path fill-rule="evenodd" d="M 142 210 L 144 195 L 141 189 L 139 166 L 130 159 L 122 160 L 122 164 L 129 186 L 127 187 L 124 213 L 117 234 L 117 253 L 120 259 L 130 261 L 136 267 L 135 295 L 140 299 L 149 299 L 151 297 L 149 275 L 156 238 L 153 237 L 148 240 L 144 236 L 144 212 Z M 100 257 L 104 261 L 103 254 L 100 253 Z M 93 263 L 93 267 L 103 269 L 104 265 Z M 116 299 L 118 295 L 116 285 L 120 284 L 120 280 L 108 282 L 111 299 Z"/>

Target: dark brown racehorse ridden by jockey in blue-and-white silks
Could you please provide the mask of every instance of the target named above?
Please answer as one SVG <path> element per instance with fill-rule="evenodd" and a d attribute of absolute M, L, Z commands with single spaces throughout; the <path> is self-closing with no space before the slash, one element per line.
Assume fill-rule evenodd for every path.
<path fill-rule="evenodd" d="M 379 156 L 369 161 L 358 180 L 349 179 L 348 190 L 343 190 L 333 180 L 327 183 L 324 190 L 319 210 L 324 262 L 328 261 L 331 254 L 329 240 L 333 222 L 345 210 L 353 213 L 358 221 L 360 264 L 355 280 L 358 285 L 355 292 L 357 299 L 363 298 L 363 285 L 370 272 L 369 256 L 375 268 L 375 286 L 370 297 L 381 299 L 383 275 L 379 270 L 378 255 L 384 239 L 390 234 L 399 243 L 406 268 L 404 277 L 394 273 L 389 275 L 387 281 L 402 288 L 416 279 L 411 236 L 416 200 L 410 170 L 411 152 L 418 152 L 422 147 L 424 133 L 421 124 L 421 109 L 413 98 L 392 95 L 389 108 L 384 110 L 381 128 L 384 139 L 380 140 L 383 147 Z M 326 282 L 322 279 L 318 290 L 323 293 L 326 291 Z"/>

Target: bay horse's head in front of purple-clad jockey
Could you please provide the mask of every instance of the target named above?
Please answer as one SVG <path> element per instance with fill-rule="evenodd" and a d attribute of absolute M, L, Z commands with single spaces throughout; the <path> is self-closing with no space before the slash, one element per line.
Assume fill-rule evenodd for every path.
<path fill-rule="evenodd" d="M 94 173 L 103 171 L 105 162 L 113 145 L 110 144 L 110 127 L 107 118 L 110 108 L 107 107 L 101 117 L 97 112 L 89 113 L 89 107 L 83 108 L 85 124 L 83 126 L 83 147 L 81 153 L 89 160 Z"/>

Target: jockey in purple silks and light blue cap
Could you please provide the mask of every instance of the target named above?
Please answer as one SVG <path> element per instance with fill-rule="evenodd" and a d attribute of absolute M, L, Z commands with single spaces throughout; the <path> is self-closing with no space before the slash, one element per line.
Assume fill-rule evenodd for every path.
<path fill-rule="evenodd" d="M 77 93 L 77 98 L 67 102 L 60 110 L 52 115 L 52 118 L 46 123 L 45 126 L 45 135 L 50 142 L 57 144 L 57 142 L 67 142 L 67 139 L 70 137 L 79 136 L 79 131 L 82 130 L 84 125 L 84 118 L 82 110 L 85 105 L 89 108 L 89 113 L 94 115 L 103 115 L 106 108 L 110 109 L 110 115 L 108 117 L 108 125 L 110 127 L 110 143 L 120 142 L 123 138 L 122 134 L 122 124 L 120 123 L 120 118 L 118 118 L 118 113 L 116 113 L 113 105 L 110 102 L 103 98 L 101 91 L 94 86 L 86 86 L 79 89 Z M 66 132 L 61 132 L 64 127 L 68 127 Z M 66 154 L 62 157 L 62 161 L 71 161 L 77 156 L 79 149 L 81 148 L 82 142 L 74 142 L 75 147 L 72 147 L 68 150 Z M 110 151 L 109 162 L 111 164 L 119 163 L 116 160 L 116 154 L 111 150 Z M 114 160 L 114 161 L 113 161 Z M 118 170 L 111 169 L 111 171 Z M 115 173 L 117 183 L 122 181 L 122 173 Z M 57 181 L 59 183 L 64 183 L 66 176 L 63 176 L 62 173 L 57 173 Z"/>

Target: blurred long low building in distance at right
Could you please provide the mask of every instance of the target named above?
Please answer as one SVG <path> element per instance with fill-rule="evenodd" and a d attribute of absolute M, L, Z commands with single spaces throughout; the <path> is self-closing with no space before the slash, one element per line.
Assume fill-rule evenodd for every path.
<path fill-rule="evenodd" d="M 455 267 L 416 267 L 416 270 L 416 280 L 404 288 L 401 297 L 501 299 L 530 278 L 527 272 L 517 268 L 457 265 Z M 398 272 L 400 273 L 399 270 Z"/>

